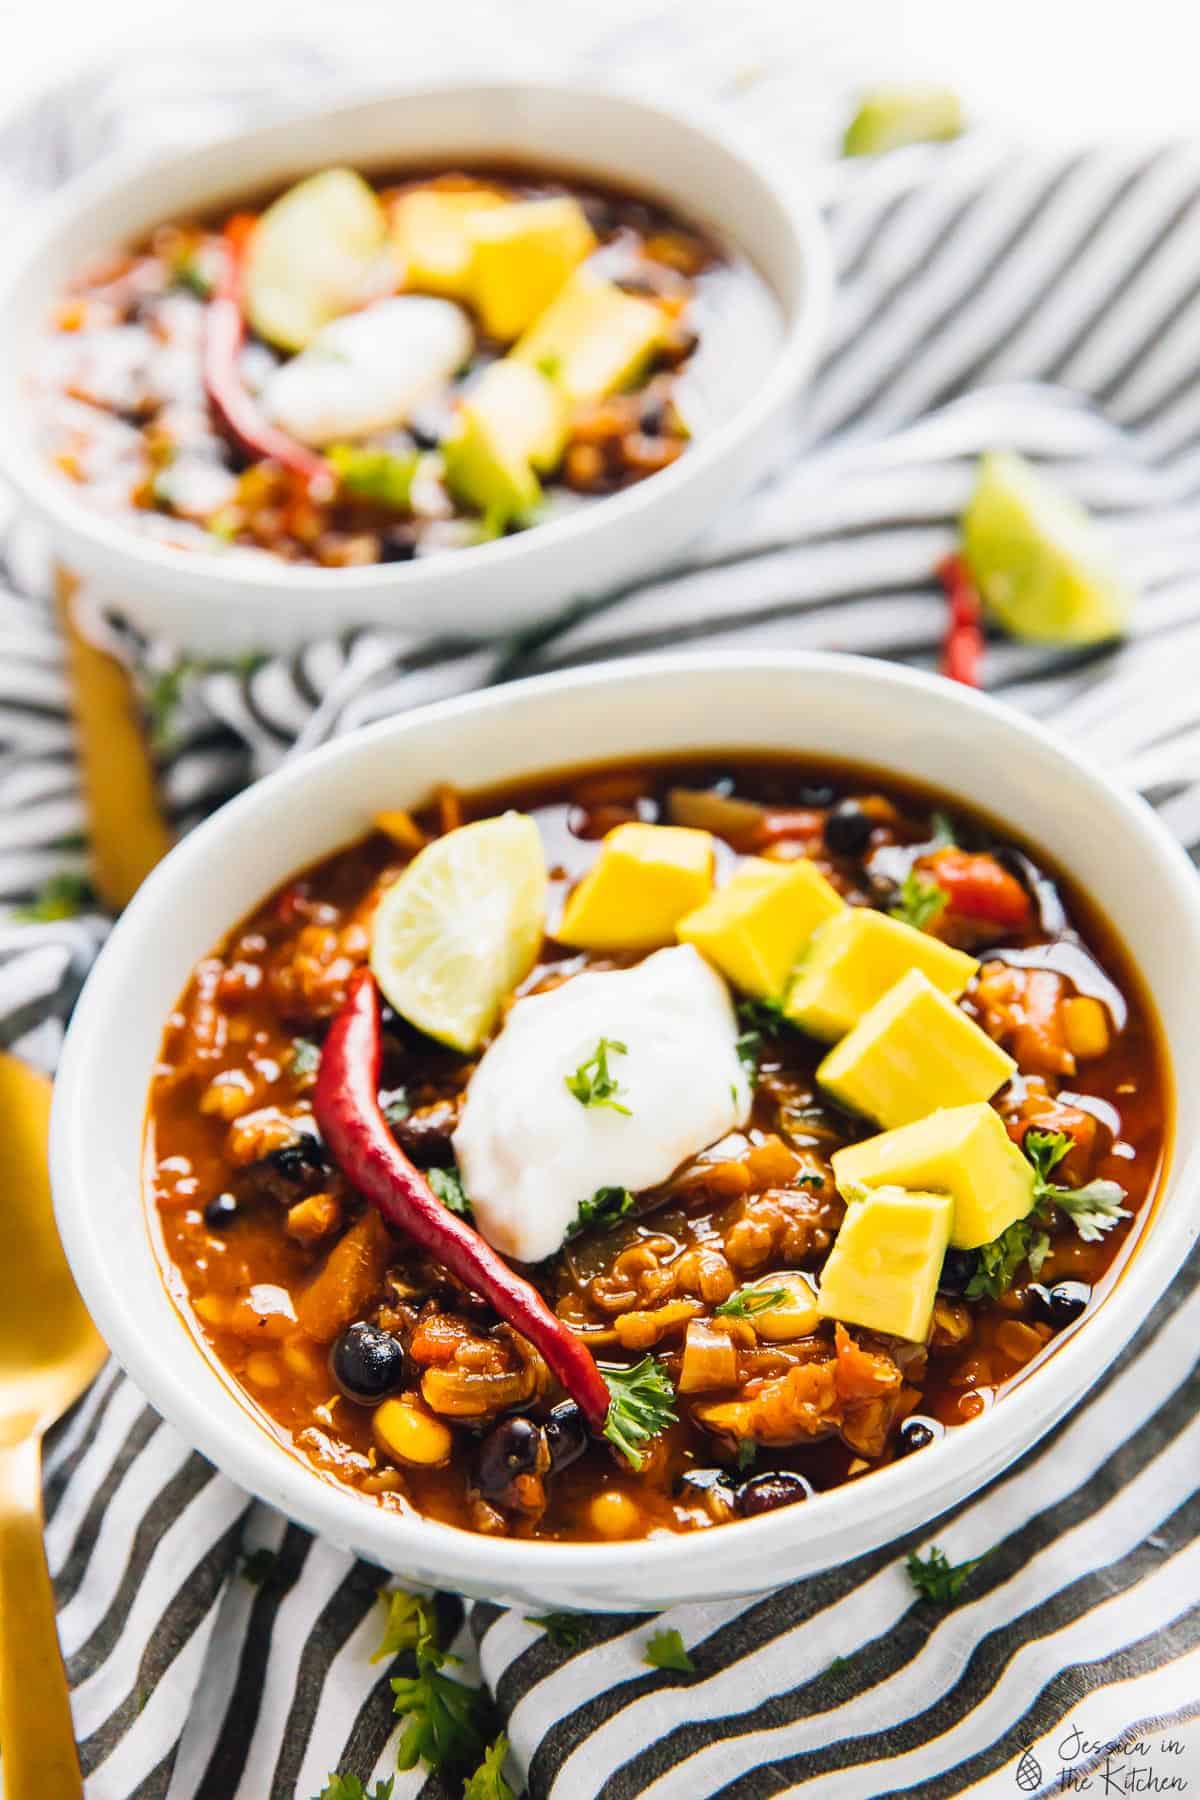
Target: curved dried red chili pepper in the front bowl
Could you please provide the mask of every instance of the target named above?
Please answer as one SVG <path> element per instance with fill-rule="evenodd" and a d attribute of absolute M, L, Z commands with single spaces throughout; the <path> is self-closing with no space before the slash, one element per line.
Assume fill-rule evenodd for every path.
<path fill-rule="evenodd" d="M 610 1393 L 592 1352 L 464 1219 L 448 1211 L 399 1148 L 380 1109 L 380 999 L 369 968 L 351 976 L 320 1053 L 313 1114 L 333 1161 L 389 1226 L 428 1251 L 542 1352 L 592 1431 Z"/>

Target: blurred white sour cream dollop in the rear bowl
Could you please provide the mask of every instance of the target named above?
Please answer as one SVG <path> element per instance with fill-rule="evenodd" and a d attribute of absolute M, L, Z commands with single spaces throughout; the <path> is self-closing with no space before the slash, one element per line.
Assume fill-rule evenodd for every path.
<path fill-rule="evenodd" d="M 471 355 L 461 306 L 417 293 L 322 326 L 263 385 L 263 410 L 306 445 L 383 432 L 443 392 Z"/>

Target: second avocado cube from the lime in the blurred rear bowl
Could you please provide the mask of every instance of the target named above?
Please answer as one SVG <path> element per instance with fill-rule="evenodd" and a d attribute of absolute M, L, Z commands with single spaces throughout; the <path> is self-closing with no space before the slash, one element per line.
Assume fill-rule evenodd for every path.
<path fill-rule="evenodd" d="M 488 337 L 511 344 L 596 248 L 578 200 L 518 200 L 470 220 L 470 297 Z"/>

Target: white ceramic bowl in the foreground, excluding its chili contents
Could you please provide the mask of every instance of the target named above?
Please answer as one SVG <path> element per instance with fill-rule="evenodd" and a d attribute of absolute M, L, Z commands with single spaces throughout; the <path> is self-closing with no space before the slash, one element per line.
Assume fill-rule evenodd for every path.
<path fill-rule="evenodd" d="M 1097 1316 L 1020 1393 L 919 1456 L 694 1537 L 543 1544 L 387 1514 L 255 1422 L 164 1285 L 142 1206 L 142 1121 L 167 1012 L 193 965 L 297 868 L 435 781 L 507 781 L 669 751 L 804 751 L 894 769 L 1011 821 L 1105 909 L 1157 997 L 1175 1089 L 1164 1199 Z M 1153 900 L 1151 900 L 1153 896 Z M 826 655 L 711 655 L 552 675 L 389 720 L 252 787 L 158 868 L 117 923 L 67 1040 L 52 1174 L 95 1323 L 151 1402 L 236 1481 L 385 1568 L 495 1600 L 646 1609 L 752 1593 L 862 1555 L 1006 1469 L 1097 1377 L 1196 1237 L 1200 884 L 1153 814 L 1042 727 L 952 682 Z"/>

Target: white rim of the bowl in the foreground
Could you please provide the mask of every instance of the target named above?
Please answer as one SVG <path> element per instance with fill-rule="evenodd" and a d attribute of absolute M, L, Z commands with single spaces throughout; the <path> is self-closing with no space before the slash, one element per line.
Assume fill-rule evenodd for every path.
<path fill-rule="evenodd" d="M 423 1557 L 435 1562 L 439 1580 L 450 1584 L 495 1584 L 497 1579 L 509 1582 L 515 1589 L 525 1586 L 527 1591 L 547 1584 L 561 1586 L 572 1579 L 597 1582 L 604 1573 L 621 1573 L 622 1584 L 644 1579 L 653 1582 L 667 1571 L 680 1571 L 694 1557 L 694 1537 L 691 1532 L 669 1534 L 662 1537 L 631 1539 L 619 1543 L 545 1543 L 524 1539 L 493 1539 L 468 1532 L 461 1526 L 444 1525 L 437 1519 L 414 1514 L 396 1514 L 376 1507 L 365 1496 L 342 1487 L 322 1476 L 297 1451 L 275 1438 L 243 1406 L 245 1431 L 227 1433 L 212 1427 L 203 1406 L 203 1382 L 191 1381 L 189 1375 L 176 1377 L 166 1364 L 160 1364 L 151 1352 L 151 1345 L 139 1337 L 135 1321 L 119 1303 L 117 1289 L 110 1289 L 103 1274 L 94 1274 L 88 1249 L 88 1220 L 85 1193 L 88 1186 L 88 1132 L 86 1132 L 86 1096 L 88 1066 L 103 1055 L 103 1026 L 119 1015 L 121 988 L 128 981 L 126 963 L 130 950 L 137 947 L 142 920 L 153 914 L 164 900 L 185 889 L 189 871 L 203 862 L 212 850 L 218 850 L 232 826 L 268 805 L 277 805 L 302 792 L 304 781 L 315 765 L 335 767 L 338 763 L 353 769 L 358 756 L 371 747 L 396 736 L 403 740 L 407 729 L 430 725 L 453 727 L 453 722 L 480 711 L 511 711 L 520 715 L 524 702 L 540 693 L 604 689 L 615 684 L 646 682 L 649 688 L 669 684 L 676 677 L 693 673 L 720 673 L 736 680 L 739 673 L 768 671 L 775 677 L 802 677 L 822 673 L 853 675 L 865 689 L 874 689 L 876 698 L 885 698 L 887 691 L 909 689 L 923 695 L 939 706 L 948 716 L 968 725 L 972 718 L 988 715 L 1000 724 L 1013 738 L 1029 738 L 1034 747 L 1051 758 L 1070 765 L 1072 776 L 1081 779 L 1101 803 L 1110 808 L 1114 823 L 1123 823 L 1135 841 L 1151 848 L 1159 857 L 1159 873 L 1169 884 L 1169 902 L 1187 914 L 1191 927 L 1200 934 L 1200 882 L 1196 871 L 1175 837 L 1157 819 L 1150 806 L 1135 794 L 1119 788 L 1105 778 L 1101 770 L 1088 763 L 1070 743 L 1061 740 L 1042 722 L 1027 718 L 1011 706 L 982 695 L 975 689 L 961 688 L 941 677 L 889 664 L 873 657 L 858 657 L 833 652 L 743 652 L 727 657 L 720 652 L 685 652 L 664 657 L 633 657 L 610 664 L 569 670 L 551 675 L 534 675 L 520 682 L 500 688 L 480 689 L 452 700 L 417 707 L 410 713 L 380 720 L 344 738 L 306 752 L 281 769 L 252 783 L 243 794 L 221 806 L 212 817 L 191 832 L 164 862 L 148 877 L 133 902 L 115 923 L 97 965 L 88 977 L 59 1064 L 52 1109 L 50 1168 L 54 1181 L 54 1204 L 63 1244 L 79 1280 L 85 1301 L 95 1316 L 95 1323 L 108 1339 L 113 1354 L 135 1379 L 146 1397 L 187 1436 L 189 1444 L 210 1456 L 232 1480 L 252 1492 L 277 1505 L 284 1514 L 299 1519 L 308 1528 L 333 1537 L 340 1543 L 362 1546 L 362 1553 L 378 1557 L 385 1566 L 403 1564 L 410 1552 L 414 1561 Z M 743 745 L 750 749 L 752 745 Z M 637 754 L 630 751 L 628 754 Z M 531 770 L 533 772 L 533 770 Z M 970 801 L 968 801 L 970 805 Z M 331 846 L 335 848 L 335 846 Z M 281 875 L 281 880 L 286 878 Z M 1101 898 L 1103 905 L 1103 898 Z M 1164 902 L 1166 905 L 1166 902 Z M 228 929 L 227 922 L 223 929 Z M 218 941 L 221 925 L 212 932 Z M 1155 995 L 1148 983 L 1146 997 L 1155 1004 Z M 1160 1042 L 1166 1053 L 1168 1093 L 1177 1087 L 1171 1044 L 1166 1030 L 1159 1026 Z M 1175 1116 L 1175 1105 L 1171 1105 Z M 1168 1190 L 1177 1190 L 1200 1181 L 1200 1145 L 1182 1147 L 1168 1134 L 1164 1147 L 1164 1170 L 1153 1202 L 1148 1229 L 1139 1233 L 1133 1253 L 1124 1264 L 1119 1280 L 1106 1292 L 1097 1316 L 1103 1310 L 1106 1336 L 1096 1337 L 1094 1319 L 1085 1321 L 1074 1336 L 1061 1343 L 1052 1355 L 1033 1368 L 1022 1381 L 1022 1404 L 1007 1402 L 988 1408 L 986 1415 L 972 1422 L 970 1465 L 979 1471 L 973 1480 L 963 1481 L 961 1435 L 946 1435 L 939 1444 L 930 1445 L 921 1456 L 903 1458 L 876 1469 L 865 1481 L 853 1483 L 853 1528 L 860 1544 L 849 1550 L 837 1550 L 838 1537 L 846 1530 L 846 1487 L 819 1492 L 806 1501 L 804 1521 L 806 1539 L 829 1546 L 831 1561 L 842 1555 L 862 1553 L 871 1544 L 894 1535 L 887 1528 L 889 1514 L 900 1516 L 905 1508 L 901 1501 L 918 1501 L 925 1523 L 937 1517 L 945 1507 L 961 1499 L 1011 1462 L 1038 1440 L 1038 1436 L 1058 1418 L 1067 1406 L 1076 1404 L 1092 1382 L 1112 1363 L 1128 1343 L 1150 1307 L 1164 1291 L 1177 1267 L 1182 1264 L 1191 1242 L 1200 1231 L 1200 1222 L 1193 1220 L 1186 1208 L 1175 1206 L 1173 1219 L 1164 1222 L 1162 1199 Z M 140 1193 L 144 1217 L 148 1217 L 144 1193 Z M 155 1256 L 162 1269 L 162 1256 L 155 1247 Z M 173 1296 L 175 1298 L 175 1296 Z M 178 1301 L 176 1301 L 178 1305 Z M 189 1321 L 184 1319 L 187 1325 Z M 1097 1355 L 1099 1350 L 1099 1355 Z M 203 1346 L 196 1343 L 196 1354 L 203 1355 Z M 245 1393 L 228 1379 L 227 1386 L 243 1399 Z M 214 1442 L 218 1440 L 218 1442 Z M 948 1462 L 948 1458 L 957 1458 Z M 941 1480 L 941 1472 L 946 1480 Z M 955 1472 L 959 1481 L 955 1485 Z M 838 1514 L 842 1516 L 838 1519 Z M 756 1519 L 730 1521 L 720 1526 L 720 1543 L 729 1532 L 736 1532 L 738 1544 L 745 1544 L 747 1534 L 757 1534 L 761 1553 L 770 1552 L 772 1535 L 788 1537 L 788 1508 L 763 1514 Z M 882 1528 L 882 1534 L 880 1534 Z M 874 1534 L 874 1535 L 871 1535 Z M 772 1586 L 768 1580 L 765 1586 Z M 486 1591 L 486 1589 L 484 1589 Z M 738 1588 L 736 1591 L 743 1591 Z"/>

